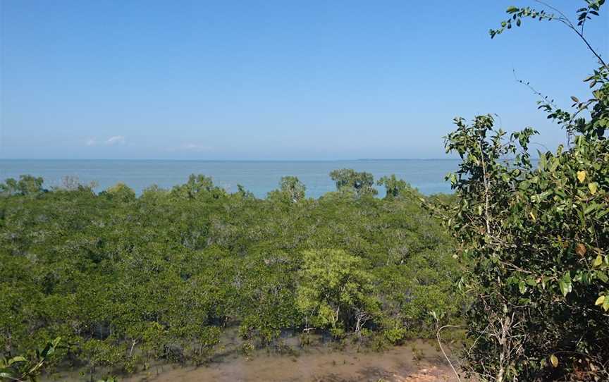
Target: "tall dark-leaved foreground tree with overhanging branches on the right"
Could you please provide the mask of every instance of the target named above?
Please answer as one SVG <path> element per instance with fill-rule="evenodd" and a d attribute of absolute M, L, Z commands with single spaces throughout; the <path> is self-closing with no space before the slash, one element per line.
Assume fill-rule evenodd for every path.
<path fill-rule="evenodd" d="M 558 20 L 587 44 L 584 23 L 603 2 L 579 9 L 579 28 L 562 13 Z M 517 25 L 524 17 L 557 19 L 531 8 L 508 13 Z M 491 37 L 510 27 L 505 21 Z M 572 113 L 542 99 L 540 109 L 569 142 L 538 152 L 537 166 L 529 150 L 536 132 L 508 137 L 490 115 L 471 125 L 456 118 L 446 138 L 462 163 L 448 177 L 457 202 L 445 209 L 445 223 L 469 264 L 460 283 L 472 301 L 466 357 L 483 381 L 609 378 L 608 75 L 601 60 L 586 80 L 593 97 L 572 97 Z"/>

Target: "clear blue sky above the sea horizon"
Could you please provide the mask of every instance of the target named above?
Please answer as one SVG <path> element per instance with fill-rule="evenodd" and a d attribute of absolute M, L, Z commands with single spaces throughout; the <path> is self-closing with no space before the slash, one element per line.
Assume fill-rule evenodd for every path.
<path fill-rule="evenodd" d="M 567 108 L 596 61 L 560 23 L 491 40 L 510 5 L 535 4 L 0 0 L 0 159 L 447 158 L 480 113 L 553 149 L 514 73 Z M 603 56 L 608 11 L 586 26 Z"/>

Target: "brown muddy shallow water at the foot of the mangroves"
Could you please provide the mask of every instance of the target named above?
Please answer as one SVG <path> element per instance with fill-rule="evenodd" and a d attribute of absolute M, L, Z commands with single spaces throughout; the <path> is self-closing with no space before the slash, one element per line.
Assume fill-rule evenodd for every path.
<path fill-rule="evenodd" d="M 414 349 L 413 349 L 414 347 Z M 159 366 L 121 381 L 347 382 L 456 381 L 433 345 L 417 341 L 384 352 L 311 348 L 293 355 L 230 355 L 207 366 Z"/>

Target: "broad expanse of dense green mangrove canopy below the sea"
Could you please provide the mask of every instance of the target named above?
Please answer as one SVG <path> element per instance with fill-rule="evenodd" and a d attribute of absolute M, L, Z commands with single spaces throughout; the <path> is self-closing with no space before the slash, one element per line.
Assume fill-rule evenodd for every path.
<path fill-rule="evenodd" d="M 412 192 L 307 199 L 286 177 L 256 199 L 192 175 L 141 195 L 127 185 L 3 193 L 0 348 L 11 358 L 61 336 L 57 361 L 99 378 L 207 362 L 232 328 L 248 351 L 313 326 L 356 340 L 430 337 L 431 304 L 460 320 L 460 274 Z M 334 325 L 328 307 L 340 307 Z"/>

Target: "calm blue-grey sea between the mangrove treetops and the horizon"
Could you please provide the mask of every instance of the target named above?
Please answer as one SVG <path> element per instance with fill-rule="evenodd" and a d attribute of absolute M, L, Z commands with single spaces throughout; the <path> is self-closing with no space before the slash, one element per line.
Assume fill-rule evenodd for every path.
<path fill-rule="evenodd" d="M 375 180 L 395 174 L 424 194 L 450 192 L 444 175 L 455 171 L 452 159 L 396 159 L 352 161 L 161 161 L 161 160 L 20 160 L 0 159 L 0 181 L 21 174 L 42 176 L 45 187 L 59 186 L 66 175 L 80 182 L 95 181 L 97 191 L 123 182 L 140 193 L 150 185 L 171 188 L 185 183 L 191 173 L 211 176 L 228 192 L 243 185 L 257 197 L 278 188 L 285 175 L 297 176 L 307 186 L 307 197 L 319 197 L 334 190 L 328 173 L 338 168 L 367 171 Z M 380 193 L 383 195 L 383 192 Z"/>

